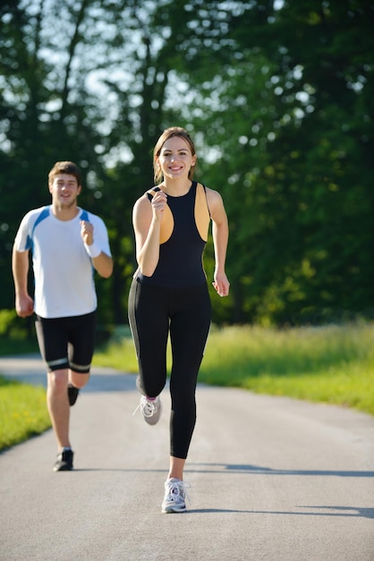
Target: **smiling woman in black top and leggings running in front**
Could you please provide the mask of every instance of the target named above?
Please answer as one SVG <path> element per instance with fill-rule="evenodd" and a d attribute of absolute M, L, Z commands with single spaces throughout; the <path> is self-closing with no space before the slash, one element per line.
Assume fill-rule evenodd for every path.
<path fill-rule="evenodd" d="M 170 333 L 170 462 L 163 513 L 183 512 L 183 468 L 196 422 L 195 390 L 211 321 L 202 255 L 209 222 L 216 268 L 213 287 L 228 295 L 225 275 L 228 223 L 222 197 L 192 180 L 197 155 L 190 135 L 171 127 L 154 152 L 156 185 L 133 208 L 138 270 L 129 295 L 129 320 L 139 362 L 140 410 L 155 425 L 166 384 L 166 343 Z"/>

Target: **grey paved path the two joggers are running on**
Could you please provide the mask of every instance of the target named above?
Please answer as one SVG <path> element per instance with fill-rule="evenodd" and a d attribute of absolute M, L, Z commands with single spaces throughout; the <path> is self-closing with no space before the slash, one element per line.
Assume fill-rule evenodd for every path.
<path fill-rule="evenodd" d="M 35 358 L 0 372 L 45 383 Z M 168 392 L 149 427 L 134 388 L 94 369 L 72 408 L 72 472 L 53 472 L 51 431 L 0 455 L 1 561 L 374 561 L 373 418 L 200 386 L 190 510 L 166 515 Z"/>

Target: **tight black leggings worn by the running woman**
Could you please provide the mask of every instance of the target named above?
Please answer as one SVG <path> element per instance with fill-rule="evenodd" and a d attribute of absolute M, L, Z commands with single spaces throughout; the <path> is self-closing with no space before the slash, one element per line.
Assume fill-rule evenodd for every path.
<path fill-rule="evenodd" d="M 139 363 L 140 388 L 148 397 L 156 397 L 166 384 L 170 331 L 170 455 L 176 458 L 187 458 L 191 444 L 196 422 L 196 383 L 210 320 L 207 284 L 171 289 L 132 281 L 129 321 Z"/>

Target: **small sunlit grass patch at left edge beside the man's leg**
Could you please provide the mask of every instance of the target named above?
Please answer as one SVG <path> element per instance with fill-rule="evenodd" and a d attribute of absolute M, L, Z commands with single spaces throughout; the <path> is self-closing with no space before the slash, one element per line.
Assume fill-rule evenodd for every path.
<path fill-rule="evenodd" d="M 0 376 L 0 450 L 51 426 L 46 390 Z"/>

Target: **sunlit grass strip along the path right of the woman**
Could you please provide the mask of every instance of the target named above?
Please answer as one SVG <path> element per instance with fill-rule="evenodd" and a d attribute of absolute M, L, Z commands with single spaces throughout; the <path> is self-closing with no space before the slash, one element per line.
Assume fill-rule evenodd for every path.
<path fill-rule="evenodd" d="M 200 382 L 356 408 L 374 415 L 374 327 L 213 330 Z"/>

